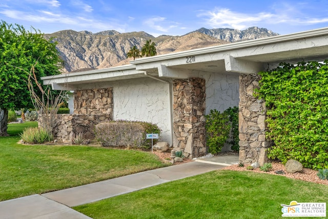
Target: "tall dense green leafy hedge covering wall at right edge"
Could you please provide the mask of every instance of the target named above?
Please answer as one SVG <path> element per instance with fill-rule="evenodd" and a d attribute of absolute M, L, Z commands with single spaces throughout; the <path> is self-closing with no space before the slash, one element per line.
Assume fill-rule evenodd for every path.
<path fill-rule="evenodd" d="M 281 63 L 259 73 L 256 93 L 268 108 L 267 136 L 274 142 L 269 158 L 283 164 L 294 159 L 306 168 L 328 168 L 327 63 Z"/>

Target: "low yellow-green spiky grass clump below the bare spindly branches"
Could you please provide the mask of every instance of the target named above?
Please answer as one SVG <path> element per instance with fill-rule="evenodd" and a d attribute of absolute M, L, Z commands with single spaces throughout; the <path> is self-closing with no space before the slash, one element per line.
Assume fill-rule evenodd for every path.
<path fill-rule="evenodd" d="M 28 127 L 19 136 L 29 144 L 43 144 L 53 140 L 53 135 L 41 127 Z"/>

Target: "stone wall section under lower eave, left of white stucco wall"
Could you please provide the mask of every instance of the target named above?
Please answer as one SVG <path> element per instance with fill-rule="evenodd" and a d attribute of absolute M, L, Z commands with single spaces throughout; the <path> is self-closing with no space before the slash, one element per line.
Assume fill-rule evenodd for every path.
<path fill-rule="evenodd" d="M 77 90 L 74 92 L 75 114 L 113 115 L 113 88 Z"/>

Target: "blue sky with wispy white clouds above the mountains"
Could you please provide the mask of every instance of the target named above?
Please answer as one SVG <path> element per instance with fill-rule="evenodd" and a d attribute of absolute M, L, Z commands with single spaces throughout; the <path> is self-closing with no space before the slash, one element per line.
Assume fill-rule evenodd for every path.
<path fill-rule="evenodd" d="M 43 33 L 117 30 L 158 36 L 183 35 L 201 27 L 257 26 L 288 34 L 328 27 L 328 1 L 1 0 L 0 19 Z"/>

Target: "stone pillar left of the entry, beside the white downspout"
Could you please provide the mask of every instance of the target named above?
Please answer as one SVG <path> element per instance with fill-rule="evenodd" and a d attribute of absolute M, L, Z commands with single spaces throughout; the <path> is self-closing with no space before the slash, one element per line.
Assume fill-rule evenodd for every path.
<path fill-rule="evenodd" d="M 173 147 L 192 158 L 207 153 L 205 138 L 205 79 L 173 81 Z"/>

